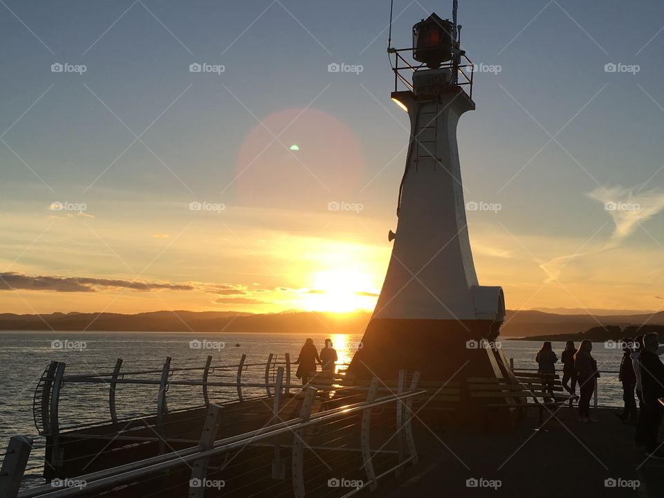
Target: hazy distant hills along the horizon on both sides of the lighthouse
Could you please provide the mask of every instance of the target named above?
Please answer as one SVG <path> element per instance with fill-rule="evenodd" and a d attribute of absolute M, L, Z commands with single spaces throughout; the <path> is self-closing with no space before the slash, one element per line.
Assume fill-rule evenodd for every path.
<path fill-rule="evenodd" d="M 156 311 L 121 313 L 52 313 L 50 315 L 0 314 L 0 330 L 59 331 L 165 331 L 165 332 L 286 332 L 362 333 L 371 313 L 252 314 L 239 311 Z M 664 325 L 664 312 L 656 315 L 557 315 L 542 311 L 508 311 L 503 337 L 540 337 L 580 334 L 597 326 Z"/>

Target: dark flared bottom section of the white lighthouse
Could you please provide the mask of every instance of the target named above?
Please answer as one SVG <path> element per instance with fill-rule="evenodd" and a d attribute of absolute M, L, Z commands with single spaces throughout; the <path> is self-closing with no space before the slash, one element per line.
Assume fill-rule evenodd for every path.
<path fill-rule="evenodd" d="M 491 320 L 409 320 L 374 318 L 348 367 L 349 376 L 398 378 L 399 370 L 420 371 L 426 382 L 497 377 L 506 365 L 487 342 L 495 341 Z"/>

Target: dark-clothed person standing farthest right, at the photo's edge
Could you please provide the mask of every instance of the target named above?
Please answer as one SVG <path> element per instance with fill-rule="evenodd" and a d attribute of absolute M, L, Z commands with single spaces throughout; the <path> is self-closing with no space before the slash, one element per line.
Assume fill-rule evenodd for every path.
<path fill-rule="evenodd" d="M 639 358 L 643 403 L 645 404 L 645 452 L 649 457 L 664 459 L 664 451 L 658 449 L 657 434 L 662 422 L 663 407 L 658 398 L 664 397 L 664 364 L 657 351 L 659 338 L 656 333 L 643 336 L 645 349 Z"/>

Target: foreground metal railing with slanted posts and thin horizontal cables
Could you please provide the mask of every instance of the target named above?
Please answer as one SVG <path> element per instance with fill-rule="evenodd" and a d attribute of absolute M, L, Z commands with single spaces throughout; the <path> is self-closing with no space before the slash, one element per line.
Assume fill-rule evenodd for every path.
<path fill-rule="evenodd" d="M 241 451 L 248 447 L 267 447 L 270 452 L 273 452 L 274 458 L 270 465 L 271 471 L 263 478 L 266 479 L 266 486 L 286 489 L 288 495 L 296 498 L 305 497 L 308 492 L 322 488 L 327 488 L 326 492 L 335 492 L 335 489 L 330 488 L 329 482 L 325 483 L 318 479 L 320 472 L 313 472 L 315 468 L 311 467 L 312 458 L 305 459 L 307 452 L 322 450 L 356 452 L 354 454 L 360 457 L 360 465 L 356 470 L 359 472 L 356 480 L 358 484 L 351 490 L 339 490 L 344 492 L 344 497 L 349 497 L 365 488 L 374 490 L 378 479 L 392 472 L 399 472 L 405 465 L 418 461 L 412 433 L 412 399 L 414 396 L 425 393 L 425 390 L 418 390 L 418 372 L 408 377 L 405 371 L 400 371 L 398 385 L 394 391 L 387 386 L 380 388 L 378 378 L 374 378 L 369 385 L 338 389 L 355 390 L 343 398 L 342 405 L 317 413 L 313 413 L 314 400 L 321 394 L 324 399 L 329 399 L 330 389 L 321 390 L 308 385 L 304 388 L 304 396 L 299 396 L 302 398 L 299 416 L 282 421 L 280 418 L 284 410 L 282 403 L 285 401 L 285 405 L 288 405 L 291 400 L 298 398 L 298 396 L 293 398 L 293 396 L 284 395 L 288 387 L 294 387 L 288 386 L 284 382 L 285 371 L 284 367 L 277 367 L 275 384 L 271 386 L 274 398 L 273 420 L 264 427 L 216 439 L 220 425 L 223 426 L 226 408 L 210 403 L 198 445 L 185 450 L 165 452 L 155 457 L 125 463 L 98 472 L 68 477 L 68 479 L 56 479 L 51 484 L 22 492 L 19 492 L 21 476 L 33 441 L 21 436 L 12 438 L 0 474 L 0 495 L 7 498 L 83 497 L 154 477 L 163 478 L 170 470 L 182 471 L 186 466 L 190 470 L 187 468 L 184 470 L 191 476 L 188 485 L 189 496 L 203 497 L 205 489 L 201 487 L 201 483 L 215 472 L 220 472 L 221 476 L 226 477 L 228 481 L 236 479 L 233 469 L 227 468 L 228 460 L 237 456 L 236 454 L 232 459 L 228 459 L 231 452 Z M 71 378 L 69 380 L 71 381 Z M 379 393 L 385 391 L 388 391 L 389 394 L 378 397 Z M 385 413 L 388 405 L 394 405 L 396 410 L 391 412 L 392 416 L 382 416 L 382 422 L 390 424 L 394 422 L 394 425 L 385 427 L 385 430 L 381 432 L 379 430 L 381 425 L 375 420 L 376 415 L 380 414 L 375 412 L 380 408 L 381 413 Z M 335 427 L 335 424 L 340 424 L 340 426 Z M 325 430 L 321 430 L 322 427 Z M 283 437 L 289 434 L 293 435 L 292 443 L 285 444 Z M 381 434 L 382 440 L 380 439 Z M 348 443 L 341 445 L 338 442 L 341 437 L 346 436 L 357 441 L 356 447 L 350 448 Z M 373 448 L 371 443 L 374 443 Z M 395 450 L 388 449 L 390 443 L 396 447 Z M 291 448 L 291 484 L 285 481 L 285 461 L 282 459 L 284 448 Z M 378 461 L 377 456 L 387 459 Z M 221 465 L 221 470 L 219 466 L 213 468 L 210 465 L 211 459 L 219 459 L 219 457 L 226 457 L 225 463 Z M 347 462 L 349 459 L 344 457 L 342 461 Z M 309 470 L 307 470 L 306 463 L 308 463 Z M 328 464 L 335 465 L 335 461 L 329 460 L 326 465 Z M 211 472 L 213 469 L 214 472 Z M 233 483 L 236 489 L 237 486 L 245 486 L 241 479 L 236 479 Z"/>

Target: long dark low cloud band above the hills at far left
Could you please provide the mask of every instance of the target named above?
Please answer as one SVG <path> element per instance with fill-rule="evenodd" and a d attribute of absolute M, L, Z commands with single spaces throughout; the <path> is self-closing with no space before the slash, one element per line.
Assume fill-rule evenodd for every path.
<path fill-rule="evenodd" d="M 55 292 L 97 292 L 100 288 L 129 288 L 133 291 L 193 291 L 189 284 L 169 284 L 164 282 L 131 282 L 129 280 L 98 279 L 87 277 L 32 277 L 16 272 L 0 273 L 0 291 L 55 291 Z"/>

